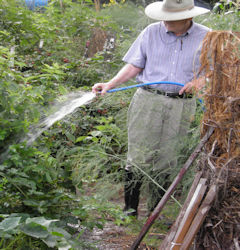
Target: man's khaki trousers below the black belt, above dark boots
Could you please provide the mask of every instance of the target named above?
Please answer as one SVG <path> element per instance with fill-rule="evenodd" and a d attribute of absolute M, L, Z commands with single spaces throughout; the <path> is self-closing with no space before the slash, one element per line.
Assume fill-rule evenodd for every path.
<path fill-rule="evenodd" d="M 128 111 L 126 170 L 135 172 L 135 176 L 140 173 L 142 179 L 142 172 L 137 169 L 141 168 L 164 186 L 161 180 L 177 162 L 176 146 L 187 134 L 195 109 L 194 98 L 171 98 L 139 88 Z M 159 193 L 156 185 L 149 183 L 150 193 L 156 196 Z"/>

